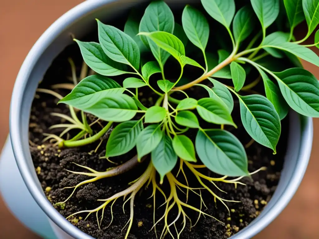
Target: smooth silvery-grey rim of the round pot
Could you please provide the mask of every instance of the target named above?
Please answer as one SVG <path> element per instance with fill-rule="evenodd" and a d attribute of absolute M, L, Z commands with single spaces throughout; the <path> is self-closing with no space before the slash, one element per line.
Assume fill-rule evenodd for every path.
<path fill-rule="evenodd" d="M 26 162 L 25 154 L 29 152 L 24 152 L 22 147 L 23 137 L 21 134 L 21 119 L 17 117 L 21 114 L 21 107 L 23 102 L 23 95 L 26 89 L 26 85 L 32 69 L 35 64 L 37 64 L 38 59 L 41 57 L 43 52 L 47 47 L 56 39 L 56 37 L 68 26 L 70 26 L 79 17 L 87 14 L 88 12 L 94 11 L 105 4 L 115 2 L 117 0 L 86 0 L 85 2 L 75 6 L 71 10 L 67 11 L 63 16 L 58 18 L 36 41 L 25 61 L 23 62 L 19 74 L 16 78 L 16 82 L 13 88 L 11 105 L 10 105 L 10 136 L 11 144 L 14 152 L 16 162 L 19 167 L 19 171 L 23 177 L 23 180 L 33 196 L 34 200 L 41 207 L 41 209 L 47 214 L 47 216 L 58 225 L 63 231 L 71 235 L 74 238 L 81 239 L 92 239 L 93 237 L 82 232 L 80 229 L 72 225 L 71 223 L 66 223 L 66 219 L 51 205 L 48 199 L 44 196 L 43 192 L 38 189 L 38 180 L 34 179 L 32 172 L 29 170 Z M 295 194 L 303 175 L 307 169 L 308 161 L 310 158 L 311 148 L 312 148 L 312 138 L 313 138 L 313 123 L 311 118 L 305 118 L 303 122 L 305 127 L 301 133 L 303 137 L 300 146 L 298 167 L 295 167 L 293 177 L 290 178 L 288 185 L 285 190 L 281 193 L 275 203 L 275 206 L 271 208 L 268 212 L 268 217 L 263 220 L 254 221 L 251 224 L 253 226 L 249 228 L 244 228 L 241 232 L 235 235 L 236 238 L 247 239 L 256 235 L 263 228 L 265 228 L 271 221 L 273 221 L 278 214 L 286 207 L 293 195 Z M 291 130 L 291 129 L 290 129 Z M 247 230 L 246 230 L 247 229 Z M 231 238 L 234 238 L 232 236 Z"/>

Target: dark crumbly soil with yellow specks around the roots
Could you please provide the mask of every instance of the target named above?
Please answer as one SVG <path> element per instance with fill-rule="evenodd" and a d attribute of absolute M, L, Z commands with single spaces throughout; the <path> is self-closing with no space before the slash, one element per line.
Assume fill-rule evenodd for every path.
<path fill-rule="evenodd" d="M 121 24 L 121 23 L 119 23 Z M 97 36 L 96 33 L 91 34 L 91 36 Z M 87 40 L 87 39 L 81 39 Z M 95 40 L 90 38 L 89 40 Z M 77 75 L 80 75 L 82 57 L 80 51 L 76 45 L 72 45 L 66 48 L 52 63 L 51 67 L 48 69 L 43 81 L 40 83 L 39 88 L 51 89 L 51 85 L 57 83 L 71 83 L 70 76 L 71 70 L 68 62 L 68 57 L 72 57 L 77 66 Z M 196 59 L 197 60 L 197 59 Z M 200 62 L 200 60 L 198 60 Z M 200 62 L 202 63 L 202 62 Z M 166 65 L 170 66 L 172 69 L 180 69 L 176 62 L 168 62 Z M 175 68 L 176 66 L 176 68 Z M 176 72 L 170 72 L 168 74 L 170 78 L 176 78 Z M 201 74 L 197 69 L 186 69 L 185 75 L 192 76 L 195 78 L 197 74 Z M 255 80 L 257 77 L 257 72 L 251 70 L 249 74 L 249 79 L 247 84 Z M 112 77 L 117 80 L 120 84 L 124 80 L 123 77 Z M 169 78 L 169 79 L 170 79 Z M 151 80 L 150 80 L 151 82 Z M 154 80 L 156 83 L 156 80 Z M 231 80 L 223 81 L 227 84 L 231 84 Z M 208 81 L 204 82 L 206 85 L 210 85 Z M 212 85 L 210 85 L 212 86 Z M 257 86 L 254 90 L 263 93 L 262 84 Z M 54 90 L 61 94 L 62 96 L 67 95 L 70 90 Z M 208 97 L 207 91 L 200 87 L 192 88 L 187 91 L 190 97 L 199 98 L 198 96 Z M 250 92 L 251 93 L 251 92 Z M 245 94 L 244 92 L 242 94 Z M 176 98 L 182 97 L 176 93 L 174 96 Z M 154 104 L 157 98 L 155 98 L 148 91 L 140 92 L 141 102 L 149 107 Z M 69 109 L 64 104 L 57 105 L 58 99 L 52 95 L 46 93 L 37 92 L 33 101 L 31 116 L 30 116 L 30 151 L 33 158 L 34 168 L 38 174 L 38 178 L 41 182 L 42 188 L 47 195 L 48 200 L 54 205 L 57 202 L 64 201 L 70 196 L 73 189 L 63 189 L 64 187 L 75 186 L 83 180 L 89 177 L 83 175 L 75 175 L 67 170 L 71 171 L 83 171 L 87 170 L 75 165 L 74 163 L 80 164 L 82 166 L 90 167 L 97 171 L 106 171 L 108 168 L 114 167 L 115 164 L 109 162 L 106 159 L 100 159 L 101 156 L 105 155 L 105 147 L 108 139 L 108 132 L 102 139 L 102 143 L 99 145 L 100 141 L 95 142 L 91 145 L 87 145 L 80 148 L 71 149 L 59 149 L 54 147 L 49 141 L 42 142 L 45 138 L 43 133 L 57 134 L 59 135 L 63 129 L 49 129 L 52 125 L 65 124 L 65 120 L 61 118 L 52 116 L 51 113 L 63 113 L 70 115 Z M 248 144 L 251 141 L 250 136 L 246 133 L 244 127 L 241 124 L 239 102 L 234 98 L 234 111 L 232 113 L 235 124 L 238 129 L 234 127 L 226 126 L 225 129 L 233 133 L 242 142 L 243 145 Z M 80 117 L 80 116 L 79 116 Z M 139 116 L 137 116 L 139 117 Z M 96 118 L 92 115 L 88 115 L 88 122 L 92 123 Z M 207 124 L 203 121 L 200 122 L 204 128 L 216 127 L 212 124 Z M 250 178 L 241 179 L 244 185 L 237 185 L 237 188 L 232 184 L 216 183 L 222 191 L 219 191 L 214 185 L 210 184 L 208 181 L 205 183 L 210 186 L 213 192 L 215 192 L 219 197 L 227 200 L 240 201 L 239 203 L 226 202 L 226 205 L 231 210 L 230 215 L 226 207 L 217 200 L 214 202 L 214 197 L 206 190 L 201 190 L 202 198 L 204 200 L 207 209 L 203 206 L 202 210 L 219 221 L 219 222 L 208 216 L 201 216 L 196 227 L 190 228 L 190 221 L 187 220 L 187 225 L 185 230 L 180 235 L 182 239 L 223 239 L 234 235 L 236 232 L 240 231 L 242 228 L 246 227 L 251 221 L 253 221 L 263 210 L 264 206 L 269 202 L 271 196 L 273 195 L 276 187 L 278 185 L 278 180 L 280 177 L 280 171 L 283 167 L 283 160 L 286 154 L 286 142 L 288 133 L 288 117 L 282 121 L 282 133 L 281 138 L 277 146 L 277 154 L 273 155 L 272 150 L 261 146 L 260 144 L 254 142 L 249 148 L 246 149 L 248 160 L 249 160 L 249 171 L 253 172 L 261 167 L 267 167 L 267 170 L 260 171 Z M 100 124 L 94 124 L 93 131 L 97 133 L 106 122 L 101 121 Z M 115 127 L 114 125 L 113 127 Z M 79 130 L 70 131 L 66 137 L 71 138 L 78 134 Z M 189 130 L 187 135 L 195 141 L 196 131 Z M 136 154 L 135 150 L 132 150 L 124 156 L 110 158 L 113 162 L 117 164 L 124 163 Z M 97 201 L 98 199 L 106 199 L 113 196 L 115 193 L 120 192 L 128 188 L 128 184 L 138 177 L 140 177 L 147 167 L 149 159 L 146 159 L 141 165 L 139 165 L 134 170 L 130 170 L 124 175 L 111 177 L 107 179 L 102 179 L 94 183 L 86 184 L 81 186 L 73 194 L 73 196 L 67 201 L 65 207 L 61 208 L 56 206 L 56 209 L 65 217 L 82 210 L 92 210 L 102 204 L 102 202 Z M 200 162 L 199 162 L 200 164 Z M 220 177 L 215 175 L 207 169 L 200 170 L 203 174 L 210 177 Z M 177 170 L 173 170 L 173 174 L 176 175 Z M 190 183 L 190 187 L 200 187 L 194 175 L 185 170 L 186 176 Z M 184 177 L 178 177 L 179 181 L 185 184 Z M 158 180 L 159 182 L 159 180 Z M 169 185 L 167 181 L 164 181 L 163 185 L 160 185 L 161 189 L 168 195 Z M 153 226 L 153 199 L 148 199 L 152 194 L 152 187 L 144 189 L 139 195 L 137 195 L 134 202 L 134 219 L 133 225 L 130 231 L 130 239 L 155 239 L 156 235 L 154 230 L 151 230 Z M 156 194 L 156 208 L 158 208 L 163 202 L 164 198 L 159 192 Z M 186 200 L 185 195 L 182 192 L 178 192 L 178 196 L 183 201 Z M 200 208 L 201 200 L 198 195 L 190 192 L 188 204 Z M 77 226 L 79 229 L 85 233 L 93 236 L 97 239 L 122 239 L 126 234 L 126 228 L 122 230 L 126 222 L 129 220 L 130 207 L 127 203 L 124 207 L 125 214 L 122 209 L 123 200 L 118 199 L 113 206 L 113 221 L 112 220 L 110 206 L 107 206 L 104 213 L 104 218 L 101 224 L 101 229 L 98 227 L 96 220 L 96 214 L 90 215 L 86 220 L 85 217 L 87 213 L 76 215 L 69 219 L 69 221 Z M 198 213 L 192 210 L 185 209 L 185 212 L 192 220 L 193 224 L 197 221 Z M 156 210 L 155 218 L 156 221 L 164 213 L 164 208 L 161 207 Z M 168 221 L 173 221 L 177 215 L 178 211 L 174 208 L 169 215 Z M 101 212 L 99 217 L 101 216 Z M 181 220 L 176 223 L 178 230 L 181 230 Z M 108 225 L 110 226 L 108 227 Z M 157 225 L 157 234 L 160 235 L 163 228 L 163 222 Z M 174 227 L 171 227 L 171 231 L 174 233 Z M 171 238 L 167 235 L 165 238 Z"/>

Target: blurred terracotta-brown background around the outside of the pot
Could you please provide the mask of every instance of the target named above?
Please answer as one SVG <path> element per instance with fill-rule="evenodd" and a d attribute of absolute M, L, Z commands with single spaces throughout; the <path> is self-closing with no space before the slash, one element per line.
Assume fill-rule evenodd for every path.
<path fill-rule="evenodd" d="M 11 91 L 19 68 L 34 42 L 58 17 L 81 0 L 0 0 L 0 147 L 9 133 L 9 105 Z M 307 26 L 302 25 L 298 38 L 302 38 Z M 313 38 L 312 38 L 313 39 Z M 312 44 L 310 39 L 308 44 Z M 318 49 L 314 49 L 319 53 Z M 314 65 L 305 63 L 319 79 Z M 319 142 L 319 119 L 314 120 L 314 146 Z M 306 176 L 293 200 L 282 214 L 255 239 L 314 239 L 317 233 L 319 215 L 319 187 L 317 156 L 319 148 L 314 147 Z M 0 198 L 0 238 L 37 239 L 17 221 L 6 209 Z"/>

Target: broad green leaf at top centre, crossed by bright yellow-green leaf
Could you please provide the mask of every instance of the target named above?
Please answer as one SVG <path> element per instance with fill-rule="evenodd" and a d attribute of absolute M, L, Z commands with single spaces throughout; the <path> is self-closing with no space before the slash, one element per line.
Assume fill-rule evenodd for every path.
<path fill-rule="evenodd" d="M 142 17 L 139 32 L 163 31 L 174 32 L 174 15 L 169 6 L 164 1 L 154 1 L 148 5 Z M 154 42 L 149 41 L 145 36 L 140 35 L 141 40 L 151 51 L 160 66 L 164 66 L 169 58 L 168 52 L 158 47 Z"/>

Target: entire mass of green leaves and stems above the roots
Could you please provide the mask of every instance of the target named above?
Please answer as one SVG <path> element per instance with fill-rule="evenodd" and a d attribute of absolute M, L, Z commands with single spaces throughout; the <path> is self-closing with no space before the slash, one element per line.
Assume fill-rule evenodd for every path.
<path fill-rule="evenodd" d="M 136 147 L 138 160 L 151 154 L 161 180 L 174 168 L 178 157 L 196 162 L 198 156 L 208 169 L 221 175 L 249 175 L 245 148 L 224 130 L 224 125 L 236 127 L 231 116 L 232 94 L 240 102 L 241 121 L 247 133 L 274 153 L 281 133 L 280 121 L 289 108 L 305 116 L 319 117 L 319 83 L 299 61 L 301 58 L 319 66 L 319 57 L 307 48 L 318 46 L 319 32 L 315 34 L 315 44 L 300 45 L 319 23 L 319 1 L 284 0 L 283 6 L 279 0 L 250 2 L 236 12 L 234 0 L 201 0 L 208 15 L 226 28 L 227 37 L 218 36 L 210 28 L 207 16 L 189 5 L 182 13 L 181 26 L 164 1 L 149 4 L 141 20 L 130 15 L 124 32 L 97 20 L 99 43 L 75 40 L 84 61 L 97 74 L 80 81 L 60 102 L 119 123 L 108 139 L 106 157 L 120 156 Z M 280 25 L 285 14 L 290 32 L 284 32 L 285 27 L 273 31 L 271 25 Z M 304 19 L 308 33 L 303 40 L 295 41 L 293 29 Z M 256 35 L 250 38 L 252 33 Z M 230 39 L 232 51 L 219 49 L 219 57 L 207 51 L 214 37 L 225 42 Z M 204 65 L 186 56 L 187 48 L 194 49 L 191 44 L 201 54 Z M 144 56 L 150 52 L 153 60 L 145 62 Z M 168 80 L 164 66 L 170 57 L 181 70 L 178 78 Z M 299 67 L 273 70 L 272 62 L 278 58 L 287 58 Z M 189 65 L 203 73 L 181 84 L 184 69 Z M 240 94 L 256 85 L 253 82 L 245 86 L 249 66 L 259 72 L 266 97 Z M 160 77 L 157 85 L 154 74 Z M 109 78 L 119 75 L 130 75 L 123 86 Z M 222 78 L 232 79 L 234 87 L 221 83 L 218 79 Z M 210 81 L 213 88 L 201 84 L 204 80 Z M 142 87 L 158 95 L 150 108 L 138 98 Z M 189 98 L 185 90 L 190 87 L 204 87 L 207 97 Z M 182 92 L 185 98 L 173 98 L 176 92 Z M 132 120 L 137 114 L 141 117 Z M 208 123 L 221 125 L 221 129 L 202 128 L 197 115 Z M 195 145 L 185 135 L 189 128 L 198 130 Z"/>

